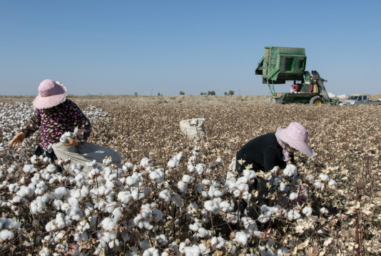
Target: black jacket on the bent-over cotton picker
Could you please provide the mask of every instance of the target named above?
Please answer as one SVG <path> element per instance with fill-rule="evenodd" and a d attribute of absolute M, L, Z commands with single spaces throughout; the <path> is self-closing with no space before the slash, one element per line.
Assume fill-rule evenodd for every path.
<path fill-rule="evenodd" d="M 253 170 L 268 172 L 275 166 L 285 168 L 286 162 L 283 160 L 282 150 L 275 133 L 267 133 L 243 145 L 237 153 L 236 160 L 242 158 L 246 160 L 243 166 L 251 163 L 253 164 Z M 292 153 L 290 153 L 290 160 L 293 162 Z"/>

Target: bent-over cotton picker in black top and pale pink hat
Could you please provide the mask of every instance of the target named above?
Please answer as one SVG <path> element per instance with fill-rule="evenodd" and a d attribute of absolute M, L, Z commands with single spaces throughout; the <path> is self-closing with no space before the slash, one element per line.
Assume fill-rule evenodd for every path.
<path fill-rule="evenodd" d="M 247 165 L 253 170 L 268 172 L 275 166 L 285 168 L 293 162 L 293 153 L 299 151 L 312 157 L 315 155 L 307 144 L 308 130 L 300 123 L 290 123 L 288 128 L 278 128 L 275 133 L 260 135 L 238 150 L 235 156 L 235 170 L 242 175 Z"/>

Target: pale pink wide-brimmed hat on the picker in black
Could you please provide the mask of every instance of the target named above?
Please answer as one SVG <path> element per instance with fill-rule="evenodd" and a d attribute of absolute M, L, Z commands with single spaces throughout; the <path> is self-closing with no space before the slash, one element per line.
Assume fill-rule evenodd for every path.
<path fill-rule="evenodd" d="M 280 128 L 278 136 L 284 143 L 287 143 L 301 153 L 307 156 L 315 155 L 313 150 L 307 144 L 308 130 L 306 130 L 300 123 L 290 123 L 288 128 Z"/>

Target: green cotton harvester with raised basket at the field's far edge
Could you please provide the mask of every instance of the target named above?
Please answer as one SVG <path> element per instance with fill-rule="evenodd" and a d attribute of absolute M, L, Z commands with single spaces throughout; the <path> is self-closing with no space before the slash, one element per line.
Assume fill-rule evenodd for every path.
<path fill-rule="evenodd" d="M 324 79 L 317 71 L 305 71 L 305 48 L 265 46 L 265 55 L 255 69 L 262 75 L 273 96 L 273 103 L 336 104 L 338 98 L 330 98 Z M 274 84 L 293 81 L 290 93 L 278 93 Z"/>

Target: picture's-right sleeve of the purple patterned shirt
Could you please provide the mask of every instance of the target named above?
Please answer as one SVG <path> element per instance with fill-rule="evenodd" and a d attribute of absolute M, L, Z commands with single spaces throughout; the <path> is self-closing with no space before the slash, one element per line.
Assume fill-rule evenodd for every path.
<path fill-rule="evenodd" d="M 68 104 L 70 105 L 70 116 L 73 118 L 75 126 L 78 128 L 74 138 L 79 144 L 83 144 L 91 134 L 91 123 L 83 114 L 81 109 L 78 108 L 76 103 L 73 103 L 73 101 L 68 101 Z"/>

